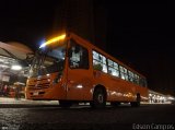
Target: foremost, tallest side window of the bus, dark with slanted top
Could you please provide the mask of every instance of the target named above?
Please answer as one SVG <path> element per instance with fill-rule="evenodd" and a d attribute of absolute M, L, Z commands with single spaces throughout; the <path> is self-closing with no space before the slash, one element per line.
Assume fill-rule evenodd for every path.
<path fill-rule="evenodd" d="M 71 69 L 89 69 L 89 51 L 86 48 L 70 40 L 69 48 L 69 67 Z"/>

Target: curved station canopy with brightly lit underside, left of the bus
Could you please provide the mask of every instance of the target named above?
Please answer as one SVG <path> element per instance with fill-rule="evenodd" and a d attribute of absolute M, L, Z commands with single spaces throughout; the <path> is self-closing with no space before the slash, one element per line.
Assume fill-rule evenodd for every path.
<path fill-rule="evenodd" d="M 20 43 L 2 43 L 0 42 L 0 75 L 16 74 L 11 67 L 13 64 L 26 63 L 26 57 L 33 54 L 32 49 Z"/>

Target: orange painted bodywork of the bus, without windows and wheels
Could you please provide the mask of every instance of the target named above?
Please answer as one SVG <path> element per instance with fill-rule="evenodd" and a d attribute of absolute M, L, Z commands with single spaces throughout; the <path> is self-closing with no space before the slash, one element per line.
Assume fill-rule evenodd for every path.
<path fill-rule="evenodd" d="M 89 42 L 82 39 L 81 37 L 74 34 L 70 34 L 69 39 L 71 38 L 89 50 L 89 69 L 71 69 L 69 67 L 67 56 L 65 71 L 60 82 L 52 84 L 57 75 L 56 73 L 50 73 L 49 78 L 40 76 L 40 81 L 37 80 L 38 78 L 28 79 L 26 87 L 26 97 L 28 99 L 92 101 L 94 87 L 97 85 L 102 85 L 105 87 L 107 94 L 107 102 L 136 102 L 137 94 L 140 94 L 141 101 L 148 99 L 147 87 L 122 80 L 121 78 L 113 76 L 108 73 L 94 70 L 92 51 L 95 49 L 102 55 L 104 55 L 106 58 L 109 58 L 118 64 L 121 64 L 128 70 L 137 73 L 135 70 L 125 66 L 117 59 L 110 57 L 103 50 L 89 44 Z M 139 76 L 143 75 L 139 74 Z M 45 84 L 48 80 L 50 80 L 48 88 L 36 88 L 37 84 Z M 37 95 L 36 93 L 36 95 L 34 95 L 35 92 L 42 94 Z"/>

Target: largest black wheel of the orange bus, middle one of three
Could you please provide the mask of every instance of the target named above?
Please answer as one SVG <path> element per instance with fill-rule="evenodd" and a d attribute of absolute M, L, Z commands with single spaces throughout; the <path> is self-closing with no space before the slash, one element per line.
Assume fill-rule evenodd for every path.
<path fill-rule="evenodd" d="M 92 108 L 104 108 L 106 106 L 106 93 L 102 87 L 94 90 L 93 101 L 90 103 Z"/>

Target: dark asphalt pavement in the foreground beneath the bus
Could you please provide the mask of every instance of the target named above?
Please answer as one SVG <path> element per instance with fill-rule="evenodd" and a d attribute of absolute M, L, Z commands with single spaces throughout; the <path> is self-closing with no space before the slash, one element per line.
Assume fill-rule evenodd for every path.
<path fill-rule="evenodd" d="M 66 109 L 57 102 L 11 102 L 2 104 L 0 99 L 0 130 L 175 129 L 175 105 L 172 104 L 142 104 L 138 108 L 122 104 L 104 109 L 79 105 Z"/>

